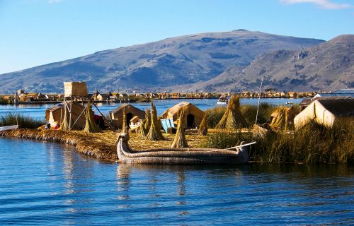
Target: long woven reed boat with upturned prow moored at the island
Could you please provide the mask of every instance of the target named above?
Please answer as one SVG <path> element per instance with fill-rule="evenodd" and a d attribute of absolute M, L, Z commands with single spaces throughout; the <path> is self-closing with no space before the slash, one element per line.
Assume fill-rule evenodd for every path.
<path fill-rule="evenodd" d="M 228 149 L 216 148 L 152 148 L 132 150 L 129 134 L 118 135 L 119 162 L 126 164 L 244 164 L 249 162 L 249 148 L 253 143 Z"/>

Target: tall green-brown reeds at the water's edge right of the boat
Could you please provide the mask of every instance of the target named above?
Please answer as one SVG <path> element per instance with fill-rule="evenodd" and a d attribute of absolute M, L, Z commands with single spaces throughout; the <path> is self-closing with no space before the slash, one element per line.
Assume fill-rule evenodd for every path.
<path fill-rule="evenodd" d="M 354 163 L 353 119 L 338 120 L 332 128 L 311 122 L 292 133 L 226 132 L 210 134 L 208 148 L 230 148 L 241 141 L 257 143 L 251 148 L 251 159 L 259 162 L 301 162 L 308 164 Z"/>

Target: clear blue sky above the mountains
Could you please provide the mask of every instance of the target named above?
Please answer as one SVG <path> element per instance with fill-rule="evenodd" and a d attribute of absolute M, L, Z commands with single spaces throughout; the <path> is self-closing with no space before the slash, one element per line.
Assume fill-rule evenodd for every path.
<path fill-rule="evenodd" d="M 200 32 L 330 40 L 354 34 L 353 0 L 0 0 L 0 73 Z"/>

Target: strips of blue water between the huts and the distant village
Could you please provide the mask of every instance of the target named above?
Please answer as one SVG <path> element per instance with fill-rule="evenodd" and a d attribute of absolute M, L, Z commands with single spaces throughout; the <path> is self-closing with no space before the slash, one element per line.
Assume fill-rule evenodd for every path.
<path fill-rule="evenodd" d="M 178 104 L 181 101 L 187 101 L 193 103 L 200 109 L 210 109 L 212 107 L 216 107 L 215 99 L 205 99 L 205 100 L 155 100 L 154 105 L 156 106 L 157 114 L 162 114 L 166 109 L 172 107 L 173 105 Z M 302 101 L 302 98 L 299 99 L 285 99 L 285 98 L 262 98 L 262 102 L 269 103 L 270 105 L 285 105 L 287 101 L 293 102 L 294 104 L 298 104 Z M 241 99 L 241 105 L 257 105 L 258 99 Z M 100 111 L 105 114 L 108 113 L 110 110 L 115 109 L 118 107 L 120 103 L 98 103 L 97 106 L 99 107 Z M 150 107 L 150 103 L 143 102 L 143 103 L 132 103 L 135 107 L 139 109 L 147 109 Z M 0 105 L 0 117 L 1 115 L 7 114 L 8 112 L 19 112 L 26 116 L 33 117 L 35 119 L 45 119 L 45 109 L 48 107 L 52 107 L 53 105 Z M 98 112 L 96 113 L 98 114 Z"/>

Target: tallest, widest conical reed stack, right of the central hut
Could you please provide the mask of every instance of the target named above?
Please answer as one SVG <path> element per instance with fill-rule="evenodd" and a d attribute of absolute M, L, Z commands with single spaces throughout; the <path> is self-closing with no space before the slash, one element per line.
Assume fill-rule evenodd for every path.
<path fill-rule="evenodd" d="M 227 104 L 227 109 L 222 119 L 217 124 L 217 129 L 239 129 L 246 127 L 246 121 L 240 111 L 240 96 L 232 95 Z"/>

